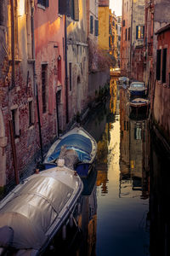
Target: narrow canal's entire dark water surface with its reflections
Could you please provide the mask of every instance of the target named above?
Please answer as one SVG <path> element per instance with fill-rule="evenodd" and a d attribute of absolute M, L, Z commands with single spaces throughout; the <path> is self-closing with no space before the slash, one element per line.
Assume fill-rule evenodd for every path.
<path fill-rule="evenodd" d="M 83 125 L 98 142 L 98 154 L 84 181 L 78 229 L 57 240 L 50 254 L 170 255 L 168 158 L 150 134 L 146 114 L 129 108 L 126 88 L 111 79 L 110 94 Z"/>

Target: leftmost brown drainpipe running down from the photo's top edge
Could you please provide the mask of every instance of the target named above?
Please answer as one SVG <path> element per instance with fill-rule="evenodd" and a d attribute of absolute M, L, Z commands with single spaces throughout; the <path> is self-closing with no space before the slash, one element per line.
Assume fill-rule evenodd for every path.
<path fill-rule="evenodd" d="M 15 84 L 14 72 L 15 72 L 15 62 L 14 62 L 14 0 L 10 0 L 11 5 L 11 53 L 12 53 L 12 88 Z"/>

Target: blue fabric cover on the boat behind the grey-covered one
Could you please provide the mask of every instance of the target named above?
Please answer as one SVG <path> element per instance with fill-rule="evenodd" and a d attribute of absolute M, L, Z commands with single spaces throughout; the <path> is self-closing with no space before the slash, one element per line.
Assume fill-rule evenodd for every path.
<path fill-rule="evenodd" d="M 53 154 L 48 156 L 48 162 L 56 160 L 59 157 L 61 146 L 66 145 L 66 148 L 73 149 L 77 152 L 78 159 L 82 162 L 88 162 L 91 160 L 90 154 L 92 152 L 92 143 L 88 137 L 84 137 L 81 134 L 71 134 L 63 138 L 56 148 L 54 148 Z"/>

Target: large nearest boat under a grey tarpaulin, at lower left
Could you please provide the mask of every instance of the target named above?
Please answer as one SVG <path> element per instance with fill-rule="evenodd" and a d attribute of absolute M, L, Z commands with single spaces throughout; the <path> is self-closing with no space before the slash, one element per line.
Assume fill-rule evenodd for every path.
<path fill-rule="evenodd" d="M 82 189 L 81 178 L 63 164 L 17 185 L 0 204 L 0 255 L 43 253 L 72 216 Z"/>

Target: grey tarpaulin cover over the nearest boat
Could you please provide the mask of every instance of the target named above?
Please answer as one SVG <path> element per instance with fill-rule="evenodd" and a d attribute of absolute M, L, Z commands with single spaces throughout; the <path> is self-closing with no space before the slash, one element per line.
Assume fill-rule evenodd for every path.
<path fill-rule="evenodd" d="M 14 230 L 12 246 L 18 249 L 42 247 L 48 239 L 45 233 L 73 190 L 55 177 L 33 175 L 0 210 L 0 227 L 7 225 Z"/>

